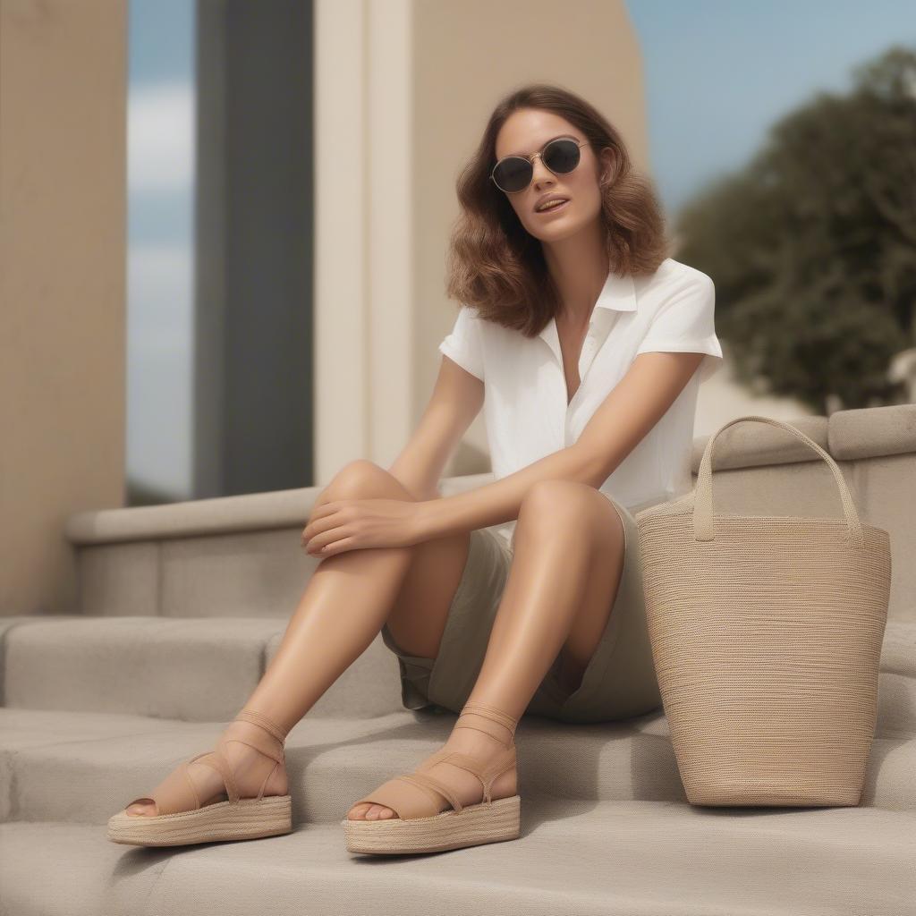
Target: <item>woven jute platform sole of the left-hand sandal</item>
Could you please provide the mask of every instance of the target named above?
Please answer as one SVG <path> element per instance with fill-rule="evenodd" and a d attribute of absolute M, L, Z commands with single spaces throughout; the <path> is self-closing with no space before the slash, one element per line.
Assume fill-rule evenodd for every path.
<path fill-rule="evenodd" d="M 182 846 L 219 840 L 254 840 L 289 834 L 292 796 L 216 802 L 196 811 L 152 817 L 118 812 L 108 821 L 108 839 L 137 846 Z"/>

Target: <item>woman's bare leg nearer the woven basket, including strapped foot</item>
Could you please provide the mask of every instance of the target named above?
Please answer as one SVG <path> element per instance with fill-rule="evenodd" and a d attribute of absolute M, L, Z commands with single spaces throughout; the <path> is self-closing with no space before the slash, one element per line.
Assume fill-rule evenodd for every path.
<path fill-rule="evenodd" d="M 570 692 L 604 632 L 623 572 L 623 527 L 616 510 L 593 487 L 542 481 L 531 487 L 518 514 L 515 556 L 468 702 L 488 703 L 518 718 L 560 655 Z M 509 736 L 506 730 L 506 739 Z M 456 728 L 445 746 L 482 762 L 500 745 L 473 729 Z M 452 787 L 463 804 L 480 802 L 480 780 L 450 763 L 431 776 Z M 493 785 L 493 798 L 517 791 L 516 769 Z M 420 791 L 420 790 L 418 790 Z M 442 800 L 440 810 L 449 807 Z M 383 805 L 360 802 L 348 817 L 396 817 Z"/>

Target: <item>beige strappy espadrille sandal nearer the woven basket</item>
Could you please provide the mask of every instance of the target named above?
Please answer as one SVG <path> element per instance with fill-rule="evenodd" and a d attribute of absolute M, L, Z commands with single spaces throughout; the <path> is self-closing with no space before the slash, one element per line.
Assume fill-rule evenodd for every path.
<path fill-rule="evenodd" d="M 508 743 L 505 732 L 491 723 L 508 729 Z M 443 748 L 412 773 L 388 780 L 376 791 L 354 802 L 348 811 L 362 802 L 374 802 L 390 808 L 398 817 L 377 821 L 344 818 L 341 823 L 344 825 L 347 849 L 352 853 L 399 855 L 518 839 L 521 799 L 518 795 L 511 795 L 494 801 L 491 794 L 496 777 L 516 765 L 516 725 L 518 719 L 495 706 L 465 703 L 454 727 L 475 728 L 495 737 L 505 749 L 487 766 L 482 766 L 467 754 Z M 425 772 L 442 762 L 474 773 L 484 787 L 484 801 L 463 805 L 442 780 Z M 452 805 L 453 810 L 439 810 L 442 807 L 440 795 Z"/>

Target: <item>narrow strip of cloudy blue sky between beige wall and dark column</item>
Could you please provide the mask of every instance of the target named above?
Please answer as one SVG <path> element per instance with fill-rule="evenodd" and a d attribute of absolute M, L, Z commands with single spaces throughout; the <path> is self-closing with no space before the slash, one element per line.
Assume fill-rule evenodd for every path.
<path fill-rule="evenodd" d="M 191 496 L 194 7 L 130 0 L 127 474 Z"/>

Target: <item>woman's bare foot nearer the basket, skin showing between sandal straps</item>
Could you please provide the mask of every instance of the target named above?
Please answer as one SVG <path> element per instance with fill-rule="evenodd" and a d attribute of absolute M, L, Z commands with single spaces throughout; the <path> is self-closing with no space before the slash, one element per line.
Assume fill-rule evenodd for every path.
<path fill-rule="evenodd" d="M 497 730 L 503 731 L 502 728 Z M 508 729 L 505 729 L 505 733 L 505 739 L 508 740 L 511 736 Z M 500 751 L 505 752 L 506 745 L 496 737 L 486 735 L 475 728 L 455 728 L 442 749 L 460 751 L 480 761 L 480 764 L 485 766 L 496 758 Z M 434 779 L 442 780 L 442 782 L 446 783 L 463 805 L 479 804 L 484 801 L 484 787 L 481 785 L 480 780 L 466 769 L 453 766 L 451 763 L 440 762 L 434 764 L 430 769 L 424 770 L 424 772 L 428 772 Z M 417 791 L 420 790 L 418 789 Z M 496 777 L 492 786 L 491 796 L 493 801 L 496 802 L 496 799 L 508 798 L 515 795 L 517 791 L 517 768 L 512 767 Z M 451 809 L 452 805 L 445 799 L 440 797 L 439 801 L 441 802 L 439 811 Z M 350 821 L 378 821 L 397 817 L 397 812 L 375 802 L 358 802 L 347 812 L 347 819 Z"/>

